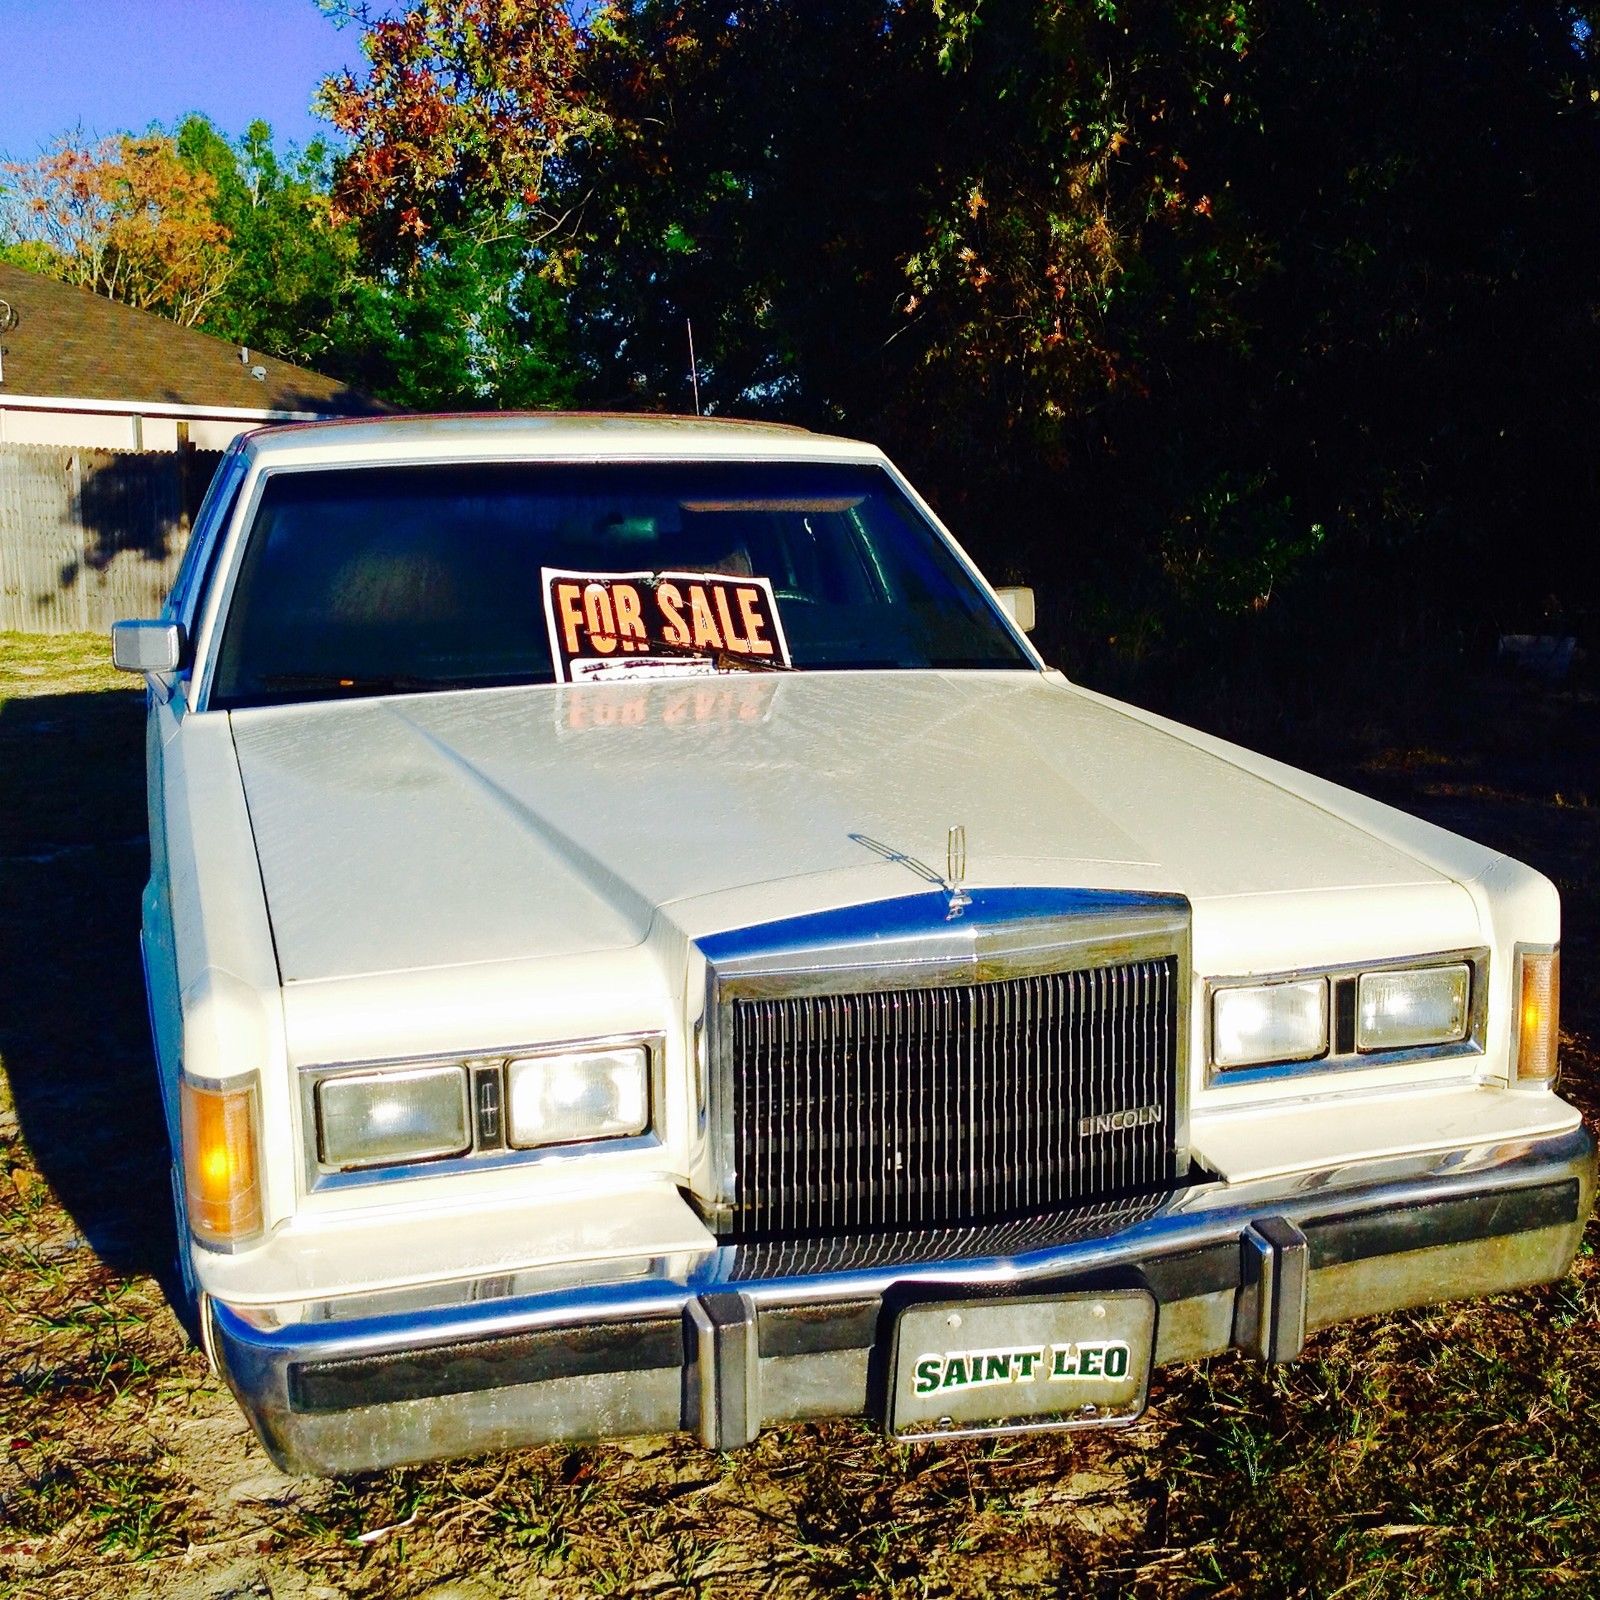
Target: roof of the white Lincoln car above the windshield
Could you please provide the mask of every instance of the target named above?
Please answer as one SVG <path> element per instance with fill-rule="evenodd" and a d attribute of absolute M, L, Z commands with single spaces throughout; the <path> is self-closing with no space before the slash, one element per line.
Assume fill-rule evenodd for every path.
<path fill-rule="evenodd" d="M 264 467 L 515 459 L 882 461 L 875 445 L 784 422 L 619 411 L 490 411 L 347 418 L 245 437 Z"/>

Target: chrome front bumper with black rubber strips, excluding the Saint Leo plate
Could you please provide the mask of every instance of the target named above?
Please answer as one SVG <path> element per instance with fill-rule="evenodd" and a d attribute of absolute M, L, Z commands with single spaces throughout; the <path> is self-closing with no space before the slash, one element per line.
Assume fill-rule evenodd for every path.
<path fill-rule="evenodd" d="M 1350 1317 L 1562 1277 L 1594 1182 L 1578 1130 L 1005 1227 L 608 1259 L 288 1314 L 213 1301 L 208 1333 L 291 1472 L 675 1429 L 726 1450 L 774 1422 L 882 1419 L 907 1298 L 1142 1285 L 1157 1363 L 1293 1360 Z"/>

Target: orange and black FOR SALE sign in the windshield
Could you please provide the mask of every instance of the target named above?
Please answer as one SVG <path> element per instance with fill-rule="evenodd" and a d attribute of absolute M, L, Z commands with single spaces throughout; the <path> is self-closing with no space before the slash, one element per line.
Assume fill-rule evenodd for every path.
<path fill-rule="evenodd" d="M 546 566 L 541 579 L 560 683 L 789 666 L 778 600 L 765 578 Z"/>

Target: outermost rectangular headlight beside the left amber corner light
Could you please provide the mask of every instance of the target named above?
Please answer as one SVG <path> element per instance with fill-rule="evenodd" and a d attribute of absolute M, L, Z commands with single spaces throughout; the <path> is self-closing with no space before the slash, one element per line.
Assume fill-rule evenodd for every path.
<path fill-rule="evenodd" d="M 466 1067 L 352 1072 L 317 1085 L 326 1166 L 390 1166 L 472 1149 Z"/>

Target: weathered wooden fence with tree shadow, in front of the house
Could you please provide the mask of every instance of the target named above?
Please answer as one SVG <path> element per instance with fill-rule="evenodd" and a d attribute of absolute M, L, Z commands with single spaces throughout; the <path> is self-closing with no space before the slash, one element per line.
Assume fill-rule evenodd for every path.
<path fill-rule="evenodd" d="M 0 632 L 155 616 L 218 451 L 0 445 Z"/>

